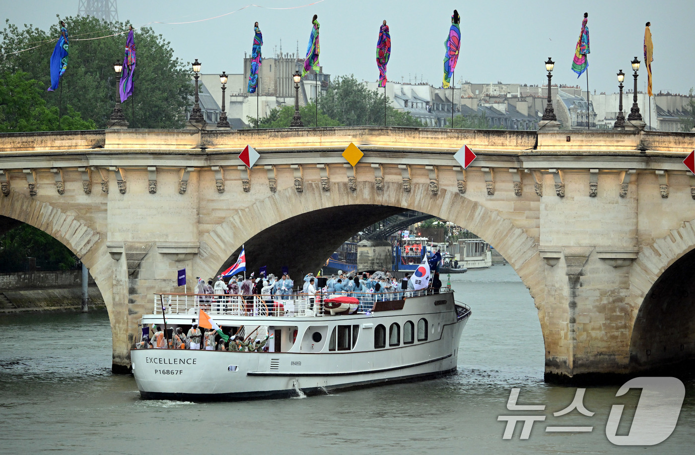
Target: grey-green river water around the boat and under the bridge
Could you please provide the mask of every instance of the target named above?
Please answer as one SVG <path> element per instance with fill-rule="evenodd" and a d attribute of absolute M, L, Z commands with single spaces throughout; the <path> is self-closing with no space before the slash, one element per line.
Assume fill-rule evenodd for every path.
<path fill-rule="evenodd" d="M 445 283 L 445 279 L 443 280 Z M 576 388 L 543 382 L 543 337 L 533 300 L 510 266 L 452 275 L 457 300 L 473 309 L 456 375 L 284 400 L 192 403 L 141 400 L 135 380 L 111 374 L 106 312 L 0 318 L 1 453 L 79 454 L 692 454 L 695 381 L 671 436 L 651 447 L 612 445 L 612 404 L 625 404 L 627 434 L 639 390 L 589 387 L 587 417 L 568 406 Z M 518 404 L 545 411 L 507 411 Z M 546 415 L 530 438 L 503 440 L 499 415 Z M 593 427 L 547 433 L 546 426 Z"/>

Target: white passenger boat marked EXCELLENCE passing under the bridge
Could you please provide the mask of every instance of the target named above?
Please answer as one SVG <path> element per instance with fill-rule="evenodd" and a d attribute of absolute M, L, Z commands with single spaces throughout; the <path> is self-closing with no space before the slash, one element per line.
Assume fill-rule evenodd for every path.
<path fill-rule="evenodd" d="M 454 293 L 407 291 L 359 295 L 359 311 L 331 314 L 317 295 L 268 304 L 269 296 L 157 294 L 140 324 L 188 332 L 199 309 L 225 332 L 270 338 L 268 352 L 133 349 L 133 375 L 145 399 L 236 400 L 320 393 L 410 381 L 456 370 L 471 309 Z M 330 296 L 338 297 L 338 295 Z M 162 314 L 165 308 L 165 314 Z"/>

